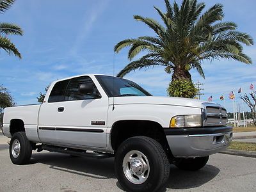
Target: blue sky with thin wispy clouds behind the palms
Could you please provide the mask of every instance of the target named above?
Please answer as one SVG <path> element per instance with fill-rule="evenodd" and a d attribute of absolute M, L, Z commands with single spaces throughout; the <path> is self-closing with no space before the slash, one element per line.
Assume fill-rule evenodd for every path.
<path fill-rule="evenodd" d="M 256 41 L 255 0 L 204 2 L 207 8 L 223 4 L 224 20 L 236 22 L 239 31 L 249 33 Z M 142 15 L 160 20 L 154 5 L 164 10 L 164 1 L 156 0 L 17 0 L 8 12 L 0 15 L 0 21 L 19 24 L 24 30 L 24 36 L 10 36 L 22 60 L 0 50 L 0 84 L 10 90 L 17 104 L 32 104 L 37 102 L 38 93 L 56 79 L 88 73 L 112 75 L 113 47 L 117 42 L 154 35 L 132 17 Z M 191 71 L 193 81 L 204 83 L 203 100 L 212 95 L 214 102 L 224 105 L 219 99 L 224 93 L 227 109 L 232 112 L 228 93 L 237 92 L 240 87 L 248 93 L 251 83 L 256 86 L 255 45 L 244 47 L 244 52 L 252 58 L 253 65 L 232 60 L 205 61 L 205 79 Z M 127 49 L 116 54 L 115 74 L 128 62 Z M 165 96 L 171 76 L 163 67 L 154 67 L 131 72 L 125 78 L 153 95 Z M 237 97 L 239 102 L 241 99 Z"/>

